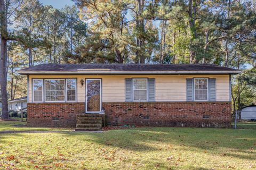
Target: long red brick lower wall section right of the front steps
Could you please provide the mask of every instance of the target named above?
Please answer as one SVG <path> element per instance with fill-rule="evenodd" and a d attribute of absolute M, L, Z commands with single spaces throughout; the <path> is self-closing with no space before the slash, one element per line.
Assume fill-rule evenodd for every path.
<path fill-rule="evenodd" d="M 102 107 L 111 125 L 231 126 L 230 102 L 111 102 L 102 103 Z"/>

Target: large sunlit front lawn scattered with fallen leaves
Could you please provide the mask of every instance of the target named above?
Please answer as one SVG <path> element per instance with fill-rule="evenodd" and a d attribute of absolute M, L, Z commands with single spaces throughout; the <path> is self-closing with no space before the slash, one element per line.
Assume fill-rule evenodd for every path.
<path fill-rule="evenodd" d="M 252 129 L 0 134 L 0 161 L 18 169 L 255 169 L 255 158 Z"/>

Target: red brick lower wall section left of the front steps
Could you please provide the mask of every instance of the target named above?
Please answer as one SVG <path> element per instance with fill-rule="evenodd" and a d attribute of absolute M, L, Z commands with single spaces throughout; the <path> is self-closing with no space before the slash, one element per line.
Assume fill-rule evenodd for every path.
<path fill-rule="evenodd" d="M 28 103 L 28 126 L 74 127 L 76 115 L 85 113 L 84 103 Z"/>

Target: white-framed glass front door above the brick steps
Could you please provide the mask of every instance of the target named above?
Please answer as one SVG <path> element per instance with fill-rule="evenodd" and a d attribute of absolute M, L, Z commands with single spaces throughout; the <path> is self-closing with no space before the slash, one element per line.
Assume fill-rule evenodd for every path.
<path fill-rule="evenodd" d="M 85 112 L 100 113 L 101 111 L 101 79 L 86 79 Z"/>

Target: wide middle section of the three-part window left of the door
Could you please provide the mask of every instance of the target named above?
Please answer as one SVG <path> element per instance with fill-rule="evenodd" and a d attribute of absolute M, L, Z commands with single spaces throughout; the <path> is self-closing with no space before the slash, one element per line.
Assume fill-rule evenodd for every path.
<path fill-rule="evenodd" d="M 65 79 L 45 80 L 45 101 L 65 101 Z"/>

